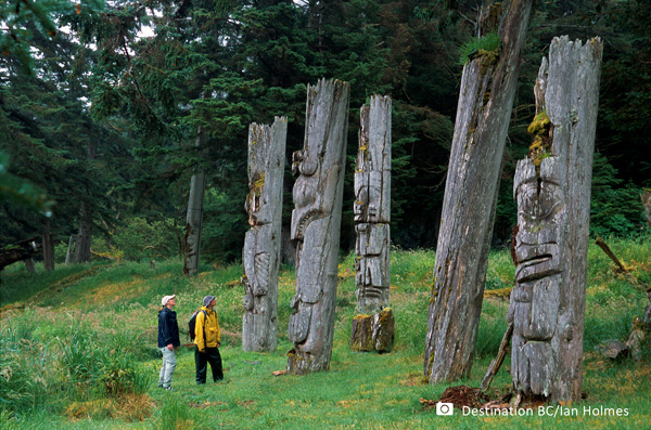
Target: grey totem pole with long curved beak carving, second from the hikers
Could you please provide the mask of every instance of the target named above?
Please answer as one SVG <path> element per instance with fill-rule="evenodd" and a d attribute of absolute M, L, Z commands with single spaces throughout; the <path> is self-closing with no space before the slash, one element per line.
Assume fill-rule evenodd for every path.
<path fill-rule="evenodd" d="M 307 89 L 305 144 L 293 156 L 292 239 L 297 242 L 288 372 L 330 368 L 342 218 L 349 84 L 321 79 Z"/>

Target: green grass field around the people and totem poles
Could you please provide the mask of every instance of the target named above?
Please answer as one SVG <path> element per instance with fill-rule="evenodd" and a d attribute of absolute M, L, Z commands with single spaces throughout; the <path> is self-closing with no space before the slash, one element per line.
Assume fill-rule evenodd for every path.
<path fill-rule="evenodd" d="M 242 269 L 204 266 L 200 276 L 181 276 L 179 261 L 94 262 L 27 273 L 8 268 L 0 285 L 0 428 L 649 428 L 651 353 L 640 362 L 611 362 L 595 352 L 605 339 L 626 340 L 630 323 L 648 299 L 651 238 L 609 239 L 633 277 L 614 271 L 596 246 L 589 249 L 584 391 L 580 404 L 554 409 L 576 416 L 473 417 L 456 411 L 437 416 L 420 399 L 438 400 L 448 387 L 423 383 L 423 351 L 434 252 L 392 252 L 391 301 L 396 343 L 387 354 L 354 353 L 348 348 L 355 315 L 354 258 L 340 265 L 334 348 L 330 372 L 273 376 L 291 349 L 286 327 L 294 272 L 283 268 L 279 283 L 279 347 L 273 353 L 241 349 Z M 39 268 L 40 269 L 40 268 Z M 487 289 L 499 292 L 513 282 L 508 250 L 494 251 Z M 159 300 L 176 294 L 180 324 L 207 295 L 217 297 L 222 331 L 225 380 L 194 383 L 193 350 L 181 348 L 173 392 L 156 388 L 161 357 L 156 347 Z M 484 301 L 471 378 L 478 387 L 506 328 L 508 299 Z M 181 327 L 181 330 L 184 326 Z M 182 342 L 188 338 L 182 335 Z M 509 360 L 489 394 L 510 389 Z M 209 379 L 209 378 L 208 378 Z M 589 408 L 590 414 L 584 411 Z M 596 416 L 601 408 L 627 416 Z M 551 411 L 550 411 L 551 412 Z"/>

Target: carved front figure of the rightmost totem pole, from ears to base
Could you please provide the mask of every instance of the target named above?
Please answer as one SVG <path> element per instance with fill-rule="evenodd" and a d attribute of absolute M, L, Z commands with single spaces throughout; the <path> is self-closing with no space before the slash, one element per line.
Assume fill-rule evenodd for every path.
<path fill-rule="evenodd" d="M 542 160 L 539 170 L 531 159 L 521 160 L 513 184 L 518 201 L 514 257 L 516 285 L 511 294 L 509 320 L 514 321 L 513 355 L 520 355 L 516 378 L 534 394 L 549 392 L 553 354 L 551 343 L 562 333 L 559 313 L 563 272 L 566 201 L 561 164 Z M 532 369 L 536 374 L 532 375 Z M 526 394 L 531 394 L 527 392 Z"/>

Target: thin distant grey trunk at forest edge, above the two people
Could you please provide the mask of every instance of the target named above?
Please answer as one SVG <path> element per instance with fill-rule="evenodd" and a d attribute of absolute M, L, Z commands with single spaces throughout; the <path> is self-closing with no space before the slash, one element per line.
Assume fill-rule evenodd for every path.
<path fill-rule="evenodd" d="M 205 145 L 208 136 L 199 127 L 196 146 Z M 196 276 L 199 273 L 199 251 L 201 249 L 201 221 L 206 187 L 206 174 L 197 169 L 190 180 L 190 196 L 188 197 L 188 216 L 186 217 L 186 258 L 183 275 Z"/>

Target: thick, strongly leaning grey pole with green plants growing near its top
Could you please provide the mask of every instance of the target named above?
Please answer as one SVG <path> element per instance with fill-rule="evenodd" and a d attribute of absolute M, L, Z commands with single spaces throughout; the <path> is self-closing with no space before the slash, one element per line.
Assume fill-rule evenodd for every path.
<path fill-rule="evenodd" d="M 502 153 L 532 3 L 505 3 L 497 62 L 495 52 L 478 51 L 463 67 L 430 299 L 424 360 L 430 383 L 469 377 L 472 368 Z"/>

